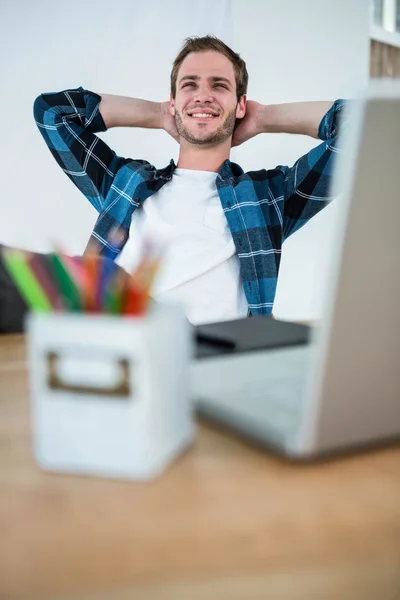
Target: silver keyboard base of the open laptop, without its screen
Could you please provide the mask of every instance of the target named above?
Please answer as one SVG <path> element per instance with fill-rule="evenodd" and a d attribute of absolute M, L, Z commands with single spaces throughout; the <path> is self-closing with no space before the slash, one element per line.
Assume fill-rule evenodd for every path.
<path fill-rule="evenodd" d="M 222 378 L 214 374 L 215 385 L 212 377 L 207 385 L 198 378 L 197 409 L 245 436 L 282 445 L 298 430 L 309 367 L 310 346 L 249 357 L 236 371 L 226 368 Z"/>

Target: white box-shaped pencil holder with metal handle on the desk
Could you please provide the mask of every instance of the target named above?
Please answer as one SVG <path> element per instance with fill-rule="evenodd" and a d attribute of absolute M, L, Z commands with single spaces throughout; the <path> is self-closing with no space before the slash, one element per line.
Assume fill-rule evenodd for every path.
<path fill-rule="evenodd" d="M 190 444 L 192 328 L 180 307 L 140 317 L 31 313 L 27 331 L 41 468 L 149 479 Z"/>

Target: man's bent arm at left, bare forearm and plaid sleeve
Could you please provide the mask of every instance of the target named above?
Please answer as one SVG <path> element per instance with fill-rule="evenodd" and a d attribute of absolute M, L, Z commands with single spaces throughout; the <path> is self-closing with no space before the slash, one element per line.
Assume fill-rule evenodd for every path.
<path fill-rule="evenodd" d="M 101 211 L 125 159 L 117 156 L 96 133 L 110 127 L 147 127 L 163 128 L 174 136 L 167 104 L 108 94 L 100 96 L 76 88 L 41 94 L 34 103 L 34 117 L 59 166 Z"/>

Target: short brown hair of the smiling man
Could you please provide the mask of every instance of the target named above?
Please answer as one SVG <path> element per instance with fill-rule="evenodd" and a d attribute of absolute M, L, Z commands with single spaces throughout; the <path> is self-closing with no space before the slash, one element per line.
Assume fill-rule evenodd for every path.
<path fill-rule="evenodd" d="M 223 41 L 219 40 L 214 35 L 206 35 L 204 37 L 189 37 L 186 38 L 181 51 L 178 56 L 174 60 L 174 64 L 172 66 L 171 71 L 171 92 L 172 97 L 175 98 L 176 94 L 176 79 L 178 76 L 179 68 L 181 67 L 183 61 L 191 52 L 208 52 L 214 51 L 219 52 L 226 56 L 231 63 L 233 64 L 233 69 L 235 71 L 235 80 L 236 80 L 236 97 L 239 102 L 240 98 L 247 93 L 247 85 L 249 82 L 249 75 L 246 69 L 246 63 L 242 58 L 240 58 L 239 54 L 234 52 L 224 44 Z"/>

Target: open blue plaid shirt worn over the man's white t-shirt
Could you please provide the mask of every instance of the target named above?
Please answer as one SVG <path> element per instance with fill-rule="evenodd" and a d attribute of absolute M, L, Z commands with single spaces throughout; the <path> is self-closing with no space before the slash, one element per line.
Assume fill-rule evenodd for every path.
<path fill-rule="evenodd" d="M 83 88 L 48 93 L 34 104 L 36 124 L 63 171 L 98 210 L 90 242 L 115 258 L 126 244 L 136 208 L 171 181 L 173 160 L 156 169 L 145 160 L 118 156 L 96 136 L 106 131 L 99 112 L 101 97 Z M 272 311 L 282 244 L 332 198 L 330 184 L 339 118 L 345 102 L 336 100 L 323 117 L 323 142 L 292 167 L 244 173 L 226 160 L 216 185 L 236 252 L 252 314 Z M 112 236 L 110 232 L 117 232 Z"/>

